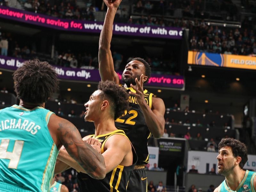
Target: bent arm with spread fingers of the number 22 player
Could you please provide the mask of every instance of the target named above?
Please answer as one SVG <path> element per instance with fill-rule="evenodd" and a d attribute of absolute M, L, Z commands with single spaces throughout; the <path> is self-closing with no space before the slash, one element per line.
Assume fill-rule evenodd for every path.
<path fill-rule="evenodd" d="M 136 93 L 129 92 L 129 94 L 136 97 L 136 100 L 143 112 L 149 131 L 153 134 L 155 138 L 159 139 L 164 134 L 164 101 L 160 98 L 153 97 L 152 107 L 151 109 L 149 108 L 144 99 L 143 77 L 144 75 L 142 74 L 140 76 L 140 81 L 138 81 L 137 78 L 135 79 L 137 86 L 131 84 L 131 87 L 136 91 Z"/>

